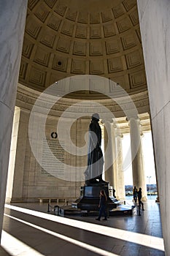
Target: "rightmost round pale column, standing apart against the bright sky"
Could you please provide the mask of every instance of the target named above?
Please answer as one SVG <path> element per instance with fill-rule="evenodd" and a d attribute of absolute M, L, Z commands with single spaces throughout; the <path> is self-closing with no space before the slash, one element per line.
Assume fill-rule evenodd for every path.
<path fill-rule="evenodd" d="M 131 160 L 133 184 L 137 189 L 142 188 L 142 200 L 147 200 L 147 187 L 144 175 L 144 163 L 142 154 L 142 140 L 140 131 L 139 118 L 129 119 L 130 136 L 131 136 Z"/>

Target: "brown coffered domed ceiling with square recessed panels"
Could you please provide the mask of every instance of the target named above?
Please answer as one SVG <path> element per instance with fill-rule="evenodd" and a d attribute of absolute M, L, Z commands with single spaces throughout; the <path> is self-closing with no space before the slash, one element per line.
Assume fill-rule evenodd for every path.
<path fill-rule="evenodd" d="M 85 74 L 147 91 L 136 0 L 29 0 L 19 82 L 44 91 Z"/>

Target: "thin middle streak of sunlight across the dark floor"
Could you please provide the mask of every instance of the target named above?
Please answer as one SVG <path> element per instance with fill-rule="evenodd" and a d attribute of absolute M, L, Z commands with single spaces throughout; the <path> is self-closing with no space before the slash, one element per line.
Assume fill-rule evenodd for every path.
<path fill-rule="evenodd" d="M 22 219 L 18 219 L 18 218 L 12 217 L 12 216 L 10 216 L 10 215 L 8 215 L 8 214 L 4 214 L 4 215 L 7 216 L 7 217 L 9 217 L 9 218 L 11 218 L 11 219 L 17 220 L 18 222 L 22 222 L 23 224 L 28 225 L 28 226 L 30 226 L 30 227 L 34 227 L 34 228 L 36 228 L 37 230 L 41 230 L 41 231 L 43 231 L 43 232 L 45 232 L 45 233 L 47 233 L 47 234 L 50 234 L 50 235 L 55 236 L 55 237 L 57 237 L 57 238 L 63 239 L 64 241 L 67 241 L 67 242 L 69 242 L 69 243 L 72 243 L 72 244 L 75 244 L 75 245 L 77 245 L 77 246 L 80 246 L 80 247 L 82 247 L 83 249 L 87 249 L 87 250 L 90 250 L 91 252 L 95 252 L 95 253 L 97 253 L 98 255 L 102 255 L 102 256 L 118 256 L 118 255 L 115 255 L 115 254 L 112 253 L 112 252 L 108 252 L 108 251 L 105 251 L 105 250 L 103 250 L 103 249 L 99 249 L 99 248 L 97 248 L 97 247 L 95 247 L 95 246 L 91 246 L 91 245 L 89 245 L 89 244 L 82 243 L 82 242 L 77 241 L 77 240 L 75 240 L 75 239 L 73 239 L 73 238 L 69 238 L 68 236 L 63 236 L 63 235 L 58 234 L 58 233 L 55 233 L 55 232 L 53 232 L 53 231 L 51 231 L 51 230 L 47 230 L 47 229 L 44 228 L 44 227 L 39 227 L 39 226 L 34 225 L 34 224 L 30 223 L 30 222 L 26 222 L 26 221 L 24 221 L 24 220 L 22 220 Z M 9 246 L 9 244 L 8 244 L 8 246 Z M 34 255 L 34 254 L 33 254 L 33 255 Z"/>

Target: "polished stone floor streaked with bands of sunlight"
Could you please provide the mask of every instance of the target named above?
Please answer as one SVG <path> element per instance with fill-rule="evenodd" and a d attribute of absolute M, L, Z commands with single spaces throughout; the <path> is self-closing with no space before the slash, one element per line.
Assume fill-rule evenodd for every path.
<path fill-rule="evenodd" d="M 95 218 L 59 217 L 53 211 L 47 213 L 47 203 L 6 205 L 0 255 L 165 255 L 160 209 L 154 200 L 144 203 L 141 216 L 135 208 L 132 216 L 100 222 Z"/>

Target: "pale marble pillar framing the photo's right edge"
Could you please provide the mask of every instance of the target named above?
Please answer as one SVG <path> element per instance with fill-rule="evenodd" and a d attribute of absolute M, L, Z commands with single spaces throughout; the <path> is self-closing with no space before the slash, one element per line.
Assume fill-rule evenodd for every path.
<path fill-rule="evenodd" d="M 138 0 L 166 255 L 170 255 L 170 2 Z"/>

